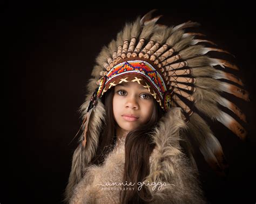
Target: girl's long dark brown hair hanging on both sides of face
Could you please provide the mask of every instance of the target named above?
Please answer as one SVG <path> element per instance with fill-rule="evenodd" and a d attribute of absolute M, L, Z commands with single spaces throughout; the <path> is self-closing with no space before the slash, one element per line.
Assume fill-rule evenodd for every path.
<path fill-rule="evenodd" d="M 116 144 L 115 127 L 113 120 L 113 95 L 114 88 L 108 90 L 103 96 L 103 103 L 106 109 L 106 123 L 103 125 L 102 133 L 99 136 L 99 145 L 96 150 L 96 156 L 91 164 L 102 164 L 105 155 L 110 152 Z M 129 132 L 125 139 L 125 167 L 123 181 L 134 184 L 134 191 L 122 191 L 120 194 L 121 203 L 146 203 L 152 200 L 146 187 L 143 186 L 138 191 L 138 182 L 142 182 L 149 175 L 149 158 L 156 144 L 150 137 L 150 132 L 158 124 L 159 119 L 164 112 L 159 104 L 154 101 L 154 110 L 150 120 L 140 125 L 139 128 Z"/>

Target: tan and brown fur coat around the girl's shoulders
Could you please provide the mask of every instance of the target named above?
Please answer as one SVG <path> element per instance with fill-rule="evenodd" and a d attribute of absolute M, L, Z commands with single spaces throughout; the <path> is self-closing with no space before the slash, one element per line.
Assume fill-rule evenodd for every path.
<path fill-rule="evenodd" d="M 87 104 L 84 107 L 87 107 Z M 66 193 L 70 195 L 69 203 L 119 203 L 120 191 L 132 189 L 132 186 L 120 185 L 122 182 L 125 184 L 122 180 L 125 162 L 124 139 L 118 140 L 103 165 L 86 165 L 95 154 L 99 121 L 104 118 L 104 111 L 104 105 L 99 101 L 96 112 L 91 116 L 92 124 L 95 125 L 90 127 L 91 137 L 87 138 L 85 150 L 82 152 L 80 145 L 73 155 L 71 174 L 76 174 L 76 180 L 70 175 L 69 185 L 76 185 L 68 185 L 66 189 Z M 200 188 L 198 172 L 196 168 L 192 168 L 190 160 L 180 146 L 181 133 L 185 129 L 181 109 L 172 108 L 161 118 L 159 127 L 152 133 L 156 147 L 150 156 L 150 174 L 144 180 L 145 184 L 151 184 L 147 185 L 147 188 L 154 198 L 152 203 L 206 202 Z M 86 174 L 78 172 L 76 166 L 83 166 Z"/>

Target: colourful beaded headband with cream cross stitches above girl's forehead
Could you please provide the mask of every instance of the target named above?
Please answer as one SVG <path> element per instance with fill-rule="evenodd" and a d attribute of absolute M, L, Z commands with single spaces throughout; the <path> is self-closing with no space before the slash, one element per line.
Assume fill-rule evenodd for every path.
<path fill-rule="evenodd" d="M 137 82 L 148 89 L 160 107 L 168 111 L 171 102 L 171 92 L 166 87 L 163 75 L 156 65 L 143 58 L 128 58 L 121 60 L 99 82 L 97 97 L 101 97 L 108 89 L 124 82 Z"/>

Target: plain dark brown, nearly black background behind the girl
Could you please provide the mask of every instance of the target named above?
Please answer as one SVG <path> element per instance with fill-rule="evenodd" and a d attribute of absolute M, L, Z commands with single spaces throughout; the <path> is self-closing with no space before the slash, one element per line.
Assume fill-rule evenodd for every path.
<path fill-rule="evenodd" d="M 131 6 L 129 8 L 129 6 Z M 134 8 L 133 8 L 134 7 Z M 251 102 L 237 103 L 246 113 L 248 138 L 241 142 L 218 124 L 213 131 L 223 145 L 230 164 L 224 180 L 198 155 L 201 181 L 212 203 L 255 203 L 255 23 L 252 5 L 201 4 L 166 5 L 158 13 L 161 23 L 177 25 L 197 21 L 220 47 L 235 55 L 237 72 Z M 168 7 L 168 9 L 167 9 Z M 59 203 L 68 181 L 75 136 L 81 120 L 85 85 L 100 48 L 109 43 L 125 21 L 151 9 L 127 4 L 123 9 L 98 9 L 73 3 L 3 3 L 2 20 L 8 43 L 8 124 L 4 138 L 9 148 L 2 180 L 1 203 Z M 138 9 L 136 9 L 138 8 Z M 201 9 L 200 9 L 201 8 Z"/>

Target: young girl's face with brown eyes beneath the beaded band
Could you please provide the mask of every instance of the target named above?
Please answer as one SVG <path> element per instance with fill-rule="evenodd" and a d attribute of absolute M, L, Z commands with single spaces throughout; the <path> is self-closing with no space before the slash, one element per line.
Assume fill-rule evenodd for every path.
<path fill-rule="evenodd" d="M 147 123 L 153 112 L 153 97 L 137 82 L 121 83 L 114 87 L 113 115 L 118 128 L 131 131 Z"/>

